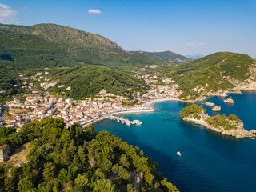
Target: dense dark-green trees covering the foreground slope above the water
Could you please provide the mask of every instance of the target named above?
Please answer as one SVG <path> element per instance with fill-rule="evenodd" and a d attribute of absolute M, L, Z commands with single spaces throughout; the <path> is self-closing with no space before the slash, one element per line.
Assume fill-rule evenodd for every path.
<path fill-rule="evenodd" d="M 157 164 L 138 147 L 122 142 L 107 131 L 86 131 L 78 124 L 66 128 L 62 119 L 30 122 L 15 133 L 0 128 L 11 149 L 32 142 L 27 162 L 0 166 L 0 191 L 127 191 L 142 174 L 140 191 L 178 191 L 157 172 Z"/>

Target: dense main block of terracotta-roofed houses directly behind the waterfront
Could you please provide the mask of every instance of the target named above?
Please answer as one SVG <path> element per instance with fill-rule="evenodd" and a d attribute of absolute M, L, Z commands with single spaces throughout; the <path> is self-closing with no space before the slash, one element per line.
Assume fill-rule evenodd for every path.
<path fill-rule="evenodd" d="M 119 100 L 76 101 L 72 98 L 54 98 L 42 94 L 26 94 L 24 101 L 17 98 L 6 102 L 4 109 L 8 114 L 2 116 L 2 126 L 20 128 L 27 122 L 42 118 L 63 118 L 67 126 L 75 122 L 84 125 L 101 118 L 105 114 L 128 110 L 146 110 L 146 104 L 122 106 Z"/>

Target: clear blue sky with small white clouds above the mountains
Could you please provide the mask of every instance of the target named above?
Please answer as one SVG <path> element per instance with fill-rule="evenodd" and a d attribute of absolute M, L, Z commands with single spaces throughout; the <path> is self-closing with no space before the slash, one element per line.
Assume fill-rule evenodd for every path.
<path fill-rule="evenodd" d="M 125 50 L 256 58 L 256 0 L 0 0 L 0 23 L 71 26 Z"/>

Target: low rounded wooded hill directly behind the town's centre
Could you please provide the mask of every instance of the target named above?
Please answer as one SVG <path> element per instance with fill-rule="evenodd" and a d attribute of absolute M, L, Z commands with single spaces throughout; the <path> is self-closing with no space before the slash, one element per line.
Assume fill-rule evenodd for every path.
<path fill-rule="evenodd" d="M 86 98 L 100 90 L 130 98 L 131 93 L 145 93 L 150 87 L 133 75 L 103 66 L 80 66 L 54 70 L 58 83 L 50 88 L 50 93 L 66 98 Z M 64 87 L 58 87 L 65 85 Z M 70 87 L 70 90 L 66 88 Z"/>

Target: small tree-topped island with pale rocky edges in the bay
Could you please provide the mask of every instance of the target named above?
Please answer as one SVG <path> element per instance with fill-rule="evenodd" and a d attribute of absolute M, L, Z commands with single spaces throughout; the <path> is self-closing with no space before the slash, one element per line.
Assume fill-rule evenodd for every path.
<path fill-rule="evenodd" d="M 235 138 L 255 139 L 256 130 L 245 130 L 243 122 L 234 114 L 228 117 L 225 114 L 214 115 L 213 117 L 206 114 L 206 109 L 197 104 L 186 106 L 180 111 L 183 120 L 194 122 L 207 129 L 214 130 L 221 134 L 233 136 Z"/>

